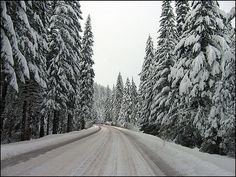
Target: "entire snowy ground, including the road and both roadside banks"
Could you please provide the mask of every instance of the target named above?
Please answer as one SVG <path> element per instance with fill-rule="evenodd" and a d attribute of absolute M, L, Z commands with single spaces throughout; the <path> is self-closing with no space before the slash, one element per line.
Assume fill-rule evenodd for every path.
<path fill-rule="evenodd" d="M 1 145 L 1 160 L 78 139 L 98 129 L 95 126 L 79 132 Z M 5 165 L 1 164 L 1 175 L 235 176 L 234 158 L 202 153 L 152 135 L 113 126 L 101 126 L 98 133 L 55 149 L 9 160 L 13 161 L 2 161 Z"/>

